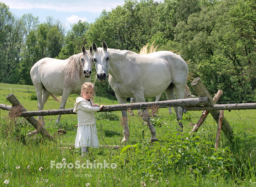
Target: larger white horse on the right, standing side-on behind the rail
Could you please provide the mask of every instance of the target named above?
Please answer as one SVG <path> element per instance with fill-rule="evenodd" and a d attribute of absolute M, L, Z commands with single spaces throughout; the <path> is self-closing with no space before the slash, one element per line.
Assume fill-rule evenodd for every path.
<path fill-rule="evenodd" d="M 97 70 L 97 78 L 105 82 L 107 73 L 112 75 L 110 86 L 114 90 L 119 104 L 126 103 L 127 97 L 133 97 L 137 102 L 145 102 L 145 97 L 157 96 L 165 92 L 168 100 L 174 100 L 176 89 L 178 99 L 184 98 L 185 87 L 188 76 L 186 62 L 177 54 L 169 51 L 159 51 L 146 55 L 140 55 L 128 50 L 108 49 L 103 41 L 102 48 L 97 48 L 95 42 L 92 44 L 94 50 L 94 62 Z M 137 84 L 134 84 L 137 82 Z M 148 123 L 151 141 L 157 140 L 156 131 L 153 127 L 148 111 L 143 111 L 143 119 Z M 183 109 L 177 107 L 180 128 L 183 129 Z M 127 111 L 122 111 L 126 118 L 124 122 L 124 138 L 129 138 Z"/>

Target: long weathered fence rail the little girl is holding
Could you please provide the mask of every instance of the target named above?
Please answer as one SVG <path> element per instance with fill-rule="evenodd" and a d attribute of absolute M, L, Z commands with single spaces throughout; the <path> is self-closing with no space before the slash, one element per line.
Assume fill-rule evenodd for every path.
<path fill-rule="evenodd" d="M 127 109 L 147 109 L 150 107 L 176 107 L 176 106 L 189 106 L 189 105 L 209 105 L 209 100 L 207 97 L 197 97 L 197 98 L 188 98 L 188 99 L 176 99 L 169 101 L 158 101 L 158 102 L 143 102 L 143 103 L 132 103 L 132 104 L 118 104 L 118 105 L 105 105 L 98 112 L 112 112 L 112 111 L 121 111 Z M 44 111 L 27 111 L 22 112 L 22 117 L 27 116 L 52 116 L 59 114 L 76 114 L 73 112 L 74 108 L 67 109 L 53 109 L 53 110 L 44 110 Z"/>

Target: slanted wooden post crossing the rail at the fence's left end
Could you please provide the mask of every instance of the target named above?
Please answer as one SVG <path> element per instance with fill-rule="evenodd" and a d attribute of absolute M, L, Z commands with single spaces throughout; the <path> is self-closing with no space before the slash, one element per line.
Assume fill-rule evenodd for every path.
<path fill-rule="evenodd" d="M 9 95 L 6 96 L 7 100 L 12 104 L 12 106 L 21 106 L 21 112 L 26 112 L 27 109 L 24 108 L 20 101 L 18 101 L 17 97 L 15 97 L 15 95 L 13 93 L 10 93 Z M 41 125 L 36 118 L 29 116 L 25 118 L 30 124 L 33 125 L 34 128 L 36 128 L 36 130 L 38 130 L 42 136 L 47 137 L 50 140 L 53 140 L 53 137 L 47 132 L 47 130 L 43 127 L 43 125 Z"/>

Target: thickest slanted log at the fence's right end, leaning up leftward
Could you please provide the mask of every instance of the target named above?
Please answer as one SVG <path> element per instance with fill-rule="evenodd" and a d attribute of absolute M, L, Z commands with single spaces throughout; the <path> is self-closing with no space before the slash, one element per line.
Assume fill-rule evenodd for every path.
<path fill-rule="evenodd" d="M 200 78 L 196 78 L 192 81 L 191 83 L 193 89 L 197 92 L 197 95 L 199 97 L 208 97 L 210 102 L 212 104 L 216 104 L 215 101 L 213 100 L 212 96 L 210 93 L 207 91 L 206 87 L 204 87 L 203 82 L 201 81 Z M 210 114 L 214 118 L 214 120 L 218 123 L 219 121 L 219 111 L 218 110 L 210 110 L 209 108 L 203 109 L 203 110 L 209 110 Z M 229 122 L 223 117 L 223 122 L 222 122 L 224 128 L 222 128 L 223 132 L 225 135 L 231 135 L 233 134 L 233 130 L 229 124 Z"/>

